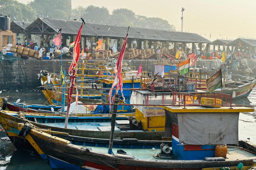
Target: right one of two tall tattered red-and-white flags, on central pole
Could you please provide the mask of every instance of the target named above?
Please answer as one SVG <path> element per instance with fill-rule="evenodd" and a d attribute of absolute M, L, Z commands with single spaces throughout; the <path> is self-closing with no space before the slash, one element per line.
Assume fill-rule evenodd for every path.
<path fill-rule="evenodd" d="M 129 30 L 129 27 L 128 27 L 128 30 Z M 121 93 L 122 93 L 122 96 L 124 98 L 123 89 L 122 89 L 122 86 L 123 86 L 122 62 L 123 62 L 123 56 L 124 56 L 124 52 L 125 52 L 125 48 L 126 48 L 126 44 L 127 44 L 127 37 L 128 37 L 128 32 L 127 32 L 126 38 L 124 40 L 124 43 L 123 43 L 122 49 L 120 51 L 120 54 L 118 56 L 116 66 L 114 68 L 114 72 L 115 72 L 116 76 L 115 76 L 115 79 L 113 81 L 112 87 L 110 88 L 109 93 L 108 93 L 109 104 L 112 103 L 111 102 L 111 97 L 112 97 L 112 91 L 113 91 L 114 87 L 116 87 L 116 94 L 118 93 L 118 90 L 120 89 Z M 115 95 L 113 96 L 112 101 L 114 101 L 114 97 L 115 97 Z M 124 100 L 125 100 L 125 98 L 124 98 Z M 111 105 L 109 105 L 109 108 L 111 110 Z"/>

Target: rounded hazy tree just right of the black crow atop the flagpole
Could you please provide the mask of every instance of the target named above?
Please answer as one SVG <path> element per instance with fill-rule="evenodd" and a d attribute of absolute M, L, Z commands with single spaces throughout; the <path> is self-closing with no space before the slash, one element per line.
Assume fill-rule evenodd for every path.
<path fill-rule="evenodd" d="M 87 6 L 85 14 L 81 15 L 82 18 L 90 20 L 90 22 L 107 24 L 109 19 L 109 10 L 106 7 Z"/>

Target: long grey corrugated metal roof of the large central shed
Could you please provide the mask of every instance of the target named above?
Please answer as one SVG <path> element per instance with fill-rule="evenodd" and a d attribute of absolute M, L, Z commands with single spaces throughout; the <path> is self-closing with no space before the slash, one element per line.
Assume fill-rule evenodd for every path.
<path fill-rule="evenodd" d="M 42 26 L 38 24 L 40 22 L 45 23 L 55 32 L 58 32 L 58 30 L 62 28 L 61 33 L 64 35 L 65 34 L 76 35 L 82 23 L 80 21 L 72 21 L 72 20 L 38 18 L 36 21 L 30 24 L 26 28 L 26 30 L 30 31 L 33 34 L 33 29 L 38 29 L 36 28 L 36 26 L 38 26 L 40 29 L 42 28 Z M 126 26 L 85 23 L 85 25 L 83 26 L 82 35 L 83 36 L 98 35 L 100 37 L 103 36 L 103 37 L 113 37 L 113 38 L 125 38 L 127 29 L 128 27 Z M 128 38 L 134 38 L 134 39 L 139 38 L 142 40 L 159 40 L 159 41 L 172 41 L 172 42 L 211 43 L 209 40 L 195 33 L 153 30 L 153 29 L 136 28 L 136 27 L 130 27 Z"/>

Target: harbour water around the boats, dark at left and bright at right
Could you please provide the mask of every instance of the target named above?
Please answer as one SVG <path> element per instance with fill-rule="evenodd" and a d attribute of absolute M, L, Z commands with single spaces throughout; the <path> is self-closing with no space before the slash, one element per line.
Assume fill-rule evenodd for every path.
<path fill-rule="evenodd" d="M 0 97 L 7 97 L 8 102 L 16 102 L 28 104 L 45 104 L 46 99 L 43 93 L 37 88 L 12 89 L 3 91 Z M 47 103 L 46 103 L 47 104 Z M 240 98 L 233 100 L 235 105 L 256 105 L 256 88 L 252 90 L 248 98 Z M 256 109 L 256 107 L 255 107 Z M 253 113 L 241 113 L 239 116 L 239 139 L 247 139 L 256 144 L 256 111 Z M 5 131 L 0 131 L 0 158 L 2 160 L 10 160 L 8 165 L 0 165 L 0 170 L 50 170 L 47 163 L 38 155 L 30 151 L 16 150 L 12 142 L 7 138 Z"/>

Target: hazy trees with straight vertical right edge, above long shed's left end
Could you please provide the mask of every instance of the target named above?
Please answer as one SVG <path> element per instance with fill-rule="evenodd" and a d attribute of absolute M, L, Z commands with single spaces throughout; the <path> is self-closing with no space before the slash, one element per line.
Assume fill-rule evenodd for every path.
<path fill-rule="evenodd" d="M 70 19 L 71 1 L 70 0 L 34 0 L 29 5 L 36 10 L 37 17 L 51 17 L 57 19 Z"/>

